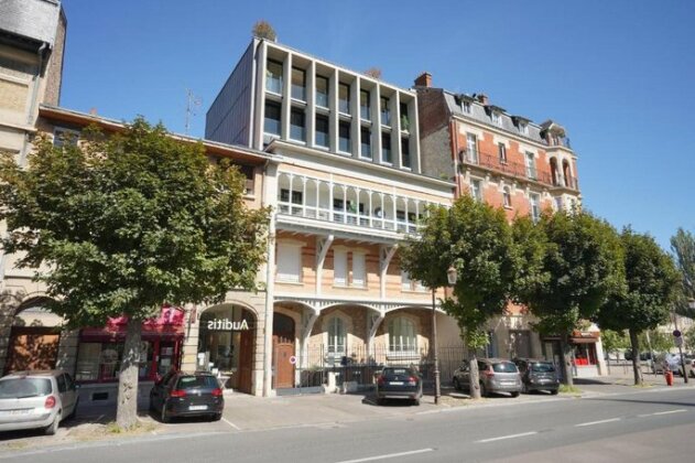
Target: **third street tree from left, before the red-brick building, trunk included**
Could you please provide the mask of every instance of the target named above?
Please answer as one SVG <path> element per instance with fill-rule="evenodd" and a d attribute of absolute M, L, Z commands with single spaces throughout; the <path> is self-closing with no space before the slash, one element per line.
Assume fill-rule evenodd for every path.
<path fill-rule="evenodd" d="M 541 333 L 561 336 L 563 380 L 572 385 L 569 336 L 621 284 L 620 240 L 608 223 L 587 212 L 544 213 L 536 226 L 542 238 L 518 245 L 539 248 L 540 269 L 515 288 L 515 299 L 539 319 L 535 326 Z"/>

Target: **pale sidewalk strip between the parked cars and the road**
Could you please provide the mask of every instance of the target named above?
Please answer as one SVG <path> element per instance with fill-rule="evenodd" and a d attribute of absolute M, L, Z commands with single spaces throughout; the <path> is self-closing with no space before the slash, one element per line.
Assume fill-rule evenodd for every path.
<path fill-rule="evenodd" d="M 397 400 L 390 401 L 384 406 L 377 406 L 372 392 L 348 395 L 313 394 L 272 398 L 234 392 L 225 395 L 225 413 L 220 421 L 187 419 L 163 424 L 146 411 L 146 403 L 141 403 L 141 427 L 135 432 L 127 433 L 118 433 L 115 427 L 109 424 L 116 417 L 115 406 L 84 407 L 78 410 L 75 420 L 63 422 L 58 433 L 53 437 L 42 435 L 39 431 L 0 433 L 0 454 L 79 442 L 122 440 L 146 435 L 173 437 L 200 433 L 238 433 L 296 427 L 340 428 L 348 422 L 406 419 L 420 413 L 436 413 L 453 408 L 511 406 L 534 401 L 572 400 L 577 397 L 591 398 L 642 390 L 695 387 L 695 380 L 691 379 L 689 384 L 685 385 L 683 378 L 676 377 L 674 385 L 669 388 L 665 385 L 663 375 L 644 375 L 644 386 L 634 387 L 631 372 L 629 375 L 622 372 L 612 373 L 619 374 L 591 379 L 576 378 L 575 386 L 580 392 L 561 394 L 558 396 L 541 392 L 521 395 L 513 399 L 509 396 L 492 396 L 473 401 L 467 395 L 445 386 L 442 389 L 442 398 L 438 406 L 434 405 L 434 397 L 431 391 L 426 391 L 428 394 L 425 394 L 422 398 L 420 407 Z"/>

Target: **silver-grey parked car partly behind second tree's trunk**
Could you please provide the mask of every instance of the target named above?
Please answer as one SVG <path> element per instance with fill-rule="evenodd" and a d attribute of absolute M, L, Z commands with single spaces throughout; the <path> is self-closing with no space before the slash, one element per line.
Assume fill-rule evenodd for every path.
<path fill-rule="evenodd" d="M 521 392 L 521 376 L 519 368 L 510 360 L 501 358 L 479 358 L 478 374 L 480 376 L 480 395 L 487 397 L 490 394 L 509 392 L 518 397 Z M 470 391 L 470 365 L 464 360 L 461 366 L 454 372 L 454 388 Z"/>

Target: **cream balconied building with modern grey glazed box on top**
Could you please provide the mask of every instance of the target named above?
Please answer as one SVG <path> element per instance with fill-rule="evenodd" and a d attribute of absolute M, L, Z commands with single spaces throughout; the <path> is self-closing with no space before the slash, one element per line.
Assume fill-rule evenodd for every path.
<path fill-rule="evenodd" d="M 254 39 L 210 107 L 207 138 L 280 159 L 267 171 L 267 395 L 427 362 L 432 294 L 401 271 L 398 247 L 454 184 L 422 173 L 416 97 Z M 441 310 L 436 323 L 460 344 Z"/>

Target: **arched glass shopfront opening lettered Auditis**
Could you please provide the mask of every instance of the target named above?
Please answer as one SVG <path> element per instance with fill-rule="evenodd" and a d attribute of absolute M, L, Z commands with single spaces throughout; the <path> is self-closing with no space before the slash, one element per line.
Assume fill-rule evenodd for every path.
<path fill-rule="evenodd" d="M 222 378 L 225 386 L 251 394 L 256 316 L 242 306 L 225 304 L 200 315 L 198 367 Z"/>

